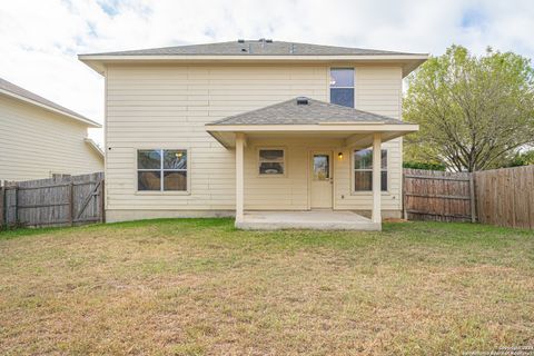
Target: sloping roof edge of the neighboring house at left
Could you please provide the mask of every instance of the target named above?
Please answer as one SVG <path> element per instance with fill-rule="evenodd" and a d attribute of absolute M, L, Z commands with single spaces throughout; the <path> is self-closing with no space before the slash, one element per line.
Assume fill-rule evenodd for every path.
<path fill-rule="evenodd" d="M 9 96 L 11 98 L 16 98 L 29 103 L 32 103 L 34 106 L 44 108 L 50 111 L 55 111 L 58 113 L 61 113 L 63 116 L 67 116 L 71 119 L 81 121 L 83 123 L 87 123 L 88 127 L 93 127 L 93 128 L 99 128 L 101 127 L 100 123 L 95 122 L 85 116 L 79 115 L 78 112 L 75 112 L 72 110 L 69 110 L 56 102 L 52 102 L 48 99 L 44 99 L 37 93 L 33 93 L 31 91 L 28 91 L 19 86 L 13 85 L 12 82 L 9 82 L 2 78 L 0 78 L 0 93 L 3 93 L 6 96 Z"/>

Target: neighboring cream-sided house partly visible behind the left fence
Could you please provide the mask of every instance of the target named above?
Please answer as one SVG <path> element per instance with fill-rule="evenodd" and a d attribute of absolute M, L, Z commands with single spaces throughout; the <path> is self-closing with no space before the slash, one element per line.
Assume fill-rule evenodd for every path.
<path fill-rule="evenodd" d="M 102 171 L 89 127 L 101 126 L 0 78 L 0 181 Z"/>

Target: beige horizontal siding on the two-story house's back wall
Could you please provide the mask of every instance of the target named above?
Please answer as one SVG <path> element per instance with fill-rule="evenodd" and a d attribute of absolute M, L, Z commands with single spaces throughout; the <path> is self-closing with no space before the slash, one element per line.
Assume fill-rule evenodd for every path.
<path fill-rule="evenodd" d="M 106 73 L 107 209 L 235 209 L 235 151 L 216 141 L 204 125 L 298 96 L 327 101 L 328 69 L 328 65 L 109 66 Z M 373 80 L 374 75 L 377 75 L 376 80 Z M 358 109 L 368 110 L 382 102 L 385 107 L 375 112 L 398 117 L 399 88 L 400 68 L 356 68 Z M 336 158 L 342 149 L 340 140 L 322 140 L 319 146 L 317 141 L 248 139 L 245 209 L 307 209 L 309 150 L 330 147 Z M 399 157 L 399 146 L 387 145 L 393 149 L 389 164 L 395 166 L 392 160 Z M 256 156 L 260 146 L 286 148 L 285 177 L 259 177 Z M 147 148 L 188 149 L 189 195 L 137 191 L 136 154 L 137 149 Z M 349 162 L 348 155 L 345 162 Z M 346 178 L 336 181 L 336 187 L 344 185 L 345 188 L 336 188 L 335 206 L 370 209 L 370 195 L 369 198 L 346 195 L 350 189 L 349 170 L 337 164 L 336 179 Z M 398 189 L 398 185 L 394 189 Z M 344 199 L 340 194 L 346 195 Z M 384 209 L 388 207 L 398 206 L 384 204 Z"/>

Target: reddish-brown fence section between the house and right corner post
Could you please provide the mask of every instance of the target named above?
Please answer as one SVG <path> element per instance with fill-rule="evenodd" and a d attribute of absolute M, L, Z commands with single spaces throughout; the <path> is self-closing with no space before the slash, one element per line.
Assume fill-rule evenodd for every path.
<path fill-rule="evenodd" d="M 476 221 L 473 175 L 404 169 L 404 218 Z"/>

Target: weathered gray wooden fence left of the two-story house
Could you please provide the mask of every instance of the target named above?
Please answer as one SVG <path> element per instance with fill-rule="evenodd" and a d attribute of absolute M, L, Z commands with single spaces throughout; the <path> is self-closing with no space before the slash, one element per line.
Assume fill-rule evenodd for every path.
<path fill-rule="evenodd" d="M 103 172 L 4 181 L 0 191 L 0 227 L 103 222 Z"/>

